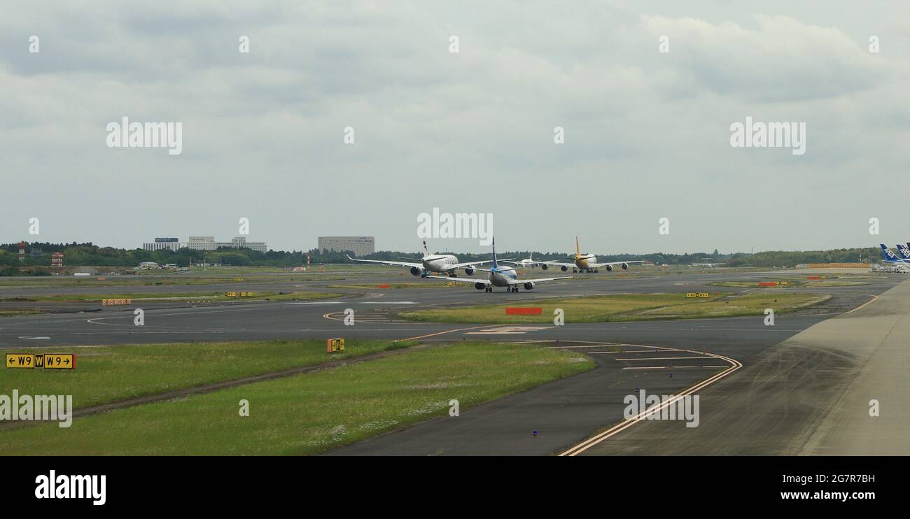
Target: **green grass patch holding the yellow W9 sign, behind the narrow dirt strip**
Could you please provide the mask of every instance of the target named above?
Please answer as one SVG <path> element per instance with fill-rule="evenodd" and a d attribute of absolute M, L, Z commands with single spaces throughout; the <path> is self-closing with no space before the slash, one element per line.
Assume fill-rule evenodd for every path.
<path fill-rule="evenodd" d="M 413 343 L 348 341 L 343 353 L 326 353 L 326 342 L 255 341 L 231 343 L 136 344 L 16 348 L 6 353 L 76 354 L 75 370 L 2 368 L 0 394 L 72 394 L 85 407 L 135 396 L 319 364 Z"/>

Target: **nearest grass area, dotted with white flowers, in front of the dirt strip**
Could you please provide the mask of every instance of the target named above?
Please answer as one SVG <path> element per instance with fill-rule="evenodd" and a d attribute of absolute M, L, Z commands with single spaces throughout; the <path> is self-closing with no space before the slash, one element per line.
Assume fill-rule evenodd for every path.
<path fill-rule="evenodd" d="M 317 454 L 591 369 L 578 353 L 458 343 L 175 401 L 0 430 L 17 454 Z M 239 415 L 240 400 L 249 415 Z M 529 431 L 528 434 L 531 432 Z"/>

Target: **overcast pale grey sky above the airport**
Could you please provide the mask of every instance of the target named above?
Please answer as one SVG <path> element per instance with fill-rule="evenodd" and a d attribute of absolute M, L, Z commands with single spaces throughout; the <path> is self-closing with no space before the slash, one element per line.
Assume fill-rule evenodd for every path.
<path fill-rule="evenodd" d="M 908 63 L 906 2 L 5 3 L 0 243 L 248 218 L 277 250 L 416 251 L 434 208 L 492 215 L 503 250 L 905 242 Z M 747 116 L 805 153 L 733 147 Z M 181 153 L 108 146 L 123 117 L 180 123 Z"/>

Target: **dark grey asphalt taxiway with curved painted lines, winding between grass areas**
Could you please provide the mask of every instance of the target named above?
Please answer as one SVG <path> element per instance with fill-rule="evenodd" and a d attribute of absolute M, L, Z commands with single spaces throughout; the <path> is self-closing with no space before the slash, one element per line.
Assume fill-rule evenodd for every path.
<path fill-rule="evenodd" d="M 793 275 L 794 272 L 786 274 Z M 902 282 L 904 277 L 875 275 L 864 279 L 866 284 L 862 285 L 812 288 L 809 290 L 812 293 L 831 294 L 833 297 L 819 307 L 777 315 L 773 326 L 765 326 L 762 316 L 564 326 L 433 324 L 403 322 L 394 317 L 401 308 L 512 301 L 525 303 L 541 298 L 584 294 L 736 292 L 743 289 L 720 288 L 708 283 L 720 279 L 764 279 L 774 275 L 779 274 L 671 274 L 627 278 L 595 274 L 578 281 L 544 284 L 533 292 L 518 294 L 486 294 L 470 286 L 449 287 L 441 285 L 444 282 L 430 280 L 423 281 L 439 283 L 440 286 L 391 290 L 326 287 L 339 283 L 375 283 L 379 286 L 403 281 L 394 271 L 369 274 L 356 282 L 262 282 L 256 284 L 258 290 L 330 291 L 342 296 L 305 302 L 238 302 L 147 308 L 144 326 L 133 324 L 132 308 L 103 309 L 87 314 L 7 317 L 0 320 L 0 348 L 329 336 L 419 338 L 421 342 L 467 339 L 535 342 L 547 347 L 577 348 L 589 354 L 598 366 L 589 372 L 521 394 L 462 409 L 457 418 L 444 417 L 416 424 L 330 454 L 560 454 L 601 431 L 621 424 L 625 407 L 623 397 L 634 394 L 639 388 L 645 388 L 652 394 L 677 394 L 730 370 L 736 364 L 742 364 L 742 368 L 737 367 L 735 371 L 698 389 L 703 398 L 703 418 L 699 427 L 687 429 L 681 422 L 642 422 L 591 445 L 583 454 L 799 454 L 803 451 L 792 444 L 781 447 L 784 439 L 797 442 L 797 438 L 808 434 L 807 422 L 814 420 L 824 424 L 828 415 L 816 413 L 807 415 L 814 418 L 780 420 L 780 407 L 775 403 L 787 397 L 786 390 L 782 388 L 802 388 L 803 392 L 817 394 L 817 402 L 822 403 L 831 394 L 843 393 L 841 385 L 846 379 L 840 377 L 836 384 L 824 384 L 824 373 L 841 367 L 844 361 L 843 355 L 819 354 L 817 350 L 797 350 L 782 347 L 781 344 L 787 344 L 832 317 L 872 301 L 875 296 Z M 408 282 L 421 281 L 404 279 Z M 162 287 L 144 288 L 149 293 L 156 293 L 154 289 Z M 168 286 L 163 290 L 174 288 Z M 210 289 L 207 285 L 206 290 Z M 247 287 L 232 285 L 231 290 L 235 289 L 246 290 Z M 109 291 L 109 287 L 106 290 Z M 177 292 L 193 290 L 197 287 L 177 287 Z M 27 289 L 18 289 L 18 292 L 29 293 Z M 3 295 L 9 296 L 7 294 L 16 294 L 16 291 L 6 287 Z M 885 303 L 888 300 L 890 297 L 885 299 Z M 878 305 L 882 302 L 876 301 L 849 315 L 855 318 L 875 312 Z M 355 313 L 356 323 L 353 326 L 346 326 L 337 318 L 346 309 Z M 616 349 L 629 350 L 630 356 L 612 353 Z M 796 351 L 800 354 L 794 354 Z M 887 364 L 881 358 L 876 362 Z M 850 365 L 855 364 L 854 361 Z M 810 378 L 806 379 L 806 376 Z M 774 388 L 773 397 L 769 397 L 767 403 L 760 405 L 753 401 L 756 380 L 765 380 L 768 387 Z M 790 384 L 780 385 L 780 380 Z M 874 377 L 868 378 L 867 384 L 874 384 Z M 865 392 L 855 396 L 860 400 L 864 397 Z M 838 413 L 847 412 L 844 410 L 849 407 L 832 405 L 831 409 Z M 750 409 L 753 414 L 750 414 Z M 836 421 L 834 417 L 829 420 L 833 422 L 824 429 L 829 433 L 822 436 L 809 434 L 814 437 L 814 443 L 804 442 L 806 448 L 819 452 L 825 445 L 837 444 L 837 429 L 833 425 Z M 727 429 L 720 425 L 725 422 Z M 735 434 L 729 434 L 730 427 Z M 532 431 L 537 431 L 537 434 L 531 434 Z M 814 434 L 822 434 L 818 427 L 814 431 Z M 840 442 L 843 444 L 844 440 Z"/>

